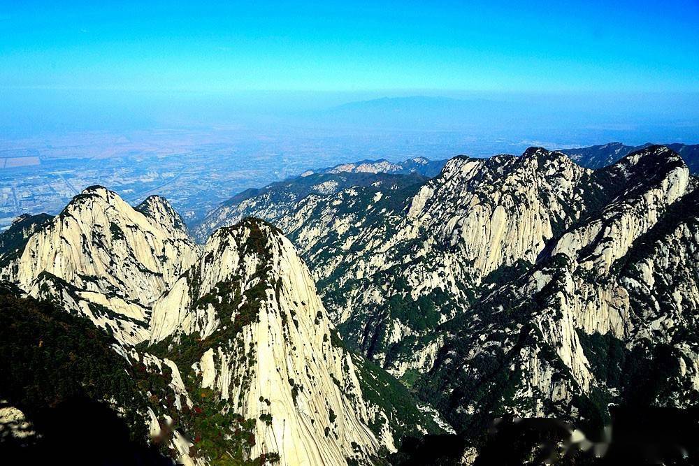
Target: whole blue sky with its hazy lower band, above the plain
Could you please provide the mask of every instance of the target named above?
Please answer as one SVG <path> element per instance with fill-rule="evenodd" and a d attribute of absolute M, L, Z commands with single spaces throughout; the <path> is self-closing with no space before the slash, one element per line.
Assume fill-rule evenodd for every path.
<path fill-rule="evenodd" d="M 435 130 L 489 138 L 497 113 L 494 121 L 505 115 L 513 131 L 505 138 L 575 130 L 596 143 L 607 133 L 595 129 L 614 136 L 623 126 L 619 136 L 630 143 L 692 142 L 697 20 L 693 0 L 576 8 L 546 1 L 527 8 L 510 1 L 8 4 L 0 13 L 0 138 L 221 125 L 373 129 L 371 115 L 349 125 L 325 117 L 346 103 L 430 96 L 500 104 L 485 115 L 456 112 L 451 124 L 434 122 Z M 380 126 L 422 130 L 433 121 L 395 123 Z"/>

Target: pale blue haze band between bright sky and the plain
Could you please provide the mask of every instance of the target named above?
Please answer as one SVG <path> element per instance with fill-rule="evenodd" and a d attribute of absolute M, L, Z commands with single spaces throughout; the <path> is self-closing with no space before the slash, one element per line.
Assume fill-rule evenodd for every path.
<path fill-rule="evenodd" d="M 677 111 L 682 108 L 682 111 Z M 82 131 L 459 131 L 470 136 L 697 143 L 699 93 L 240 92 L 168 94 L 17 89 L 0 102 L 0 137 Z M 570 133 L 568 140 L 559 135 Z M 552 139 L 552 136 L 556 136 Z M 611 138 L 611 139 L 610 139 Z"/>

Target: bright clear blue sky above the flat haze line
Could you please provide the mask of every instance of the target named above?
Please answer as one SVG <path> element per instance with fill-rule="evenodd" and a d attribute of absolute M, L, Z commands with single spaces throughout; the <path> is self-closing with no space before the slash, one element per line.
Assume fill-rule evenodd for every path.
<path fill-rule="evenodd" d="M 5 0 L 0 92 L 699 92 L 697 0 L 201 3 Z"/>

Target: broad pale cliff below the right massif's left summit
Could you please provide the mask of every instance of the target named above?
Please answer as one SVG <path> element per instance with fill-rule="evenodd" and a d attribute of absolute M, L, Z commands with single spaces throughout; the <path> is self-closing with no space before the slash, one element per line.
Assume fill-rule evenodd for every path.
<path fill-rule="evenodd" d="M 477 285 L 501 265 L 533 262 L 554 232 L 584 212 L 589 176 L 540 148 L 521 157 L 452 159 L 412 199 L 408 217 L 456 247 Z"/>

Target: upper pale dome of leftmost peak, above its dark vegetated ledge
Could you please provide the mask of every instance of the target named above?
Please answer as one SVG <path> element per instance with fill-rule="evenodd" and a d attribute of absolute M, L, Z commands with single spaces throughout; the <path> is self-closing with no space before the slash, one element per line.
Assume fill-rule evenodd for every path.
<path fill-rule="evenodd" d="M 124 298 L 150 303 L 196 254 L 188 238 L 173 235 L 170 227 L 178 218 L 147 217 L 114 191 L 89 187 L 29 239 L 20 283 L 31 286 L 46 270 L 79 287 L 92 288 L 96 281 L 101 292 L 116 287 Z"/>

